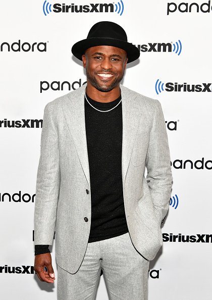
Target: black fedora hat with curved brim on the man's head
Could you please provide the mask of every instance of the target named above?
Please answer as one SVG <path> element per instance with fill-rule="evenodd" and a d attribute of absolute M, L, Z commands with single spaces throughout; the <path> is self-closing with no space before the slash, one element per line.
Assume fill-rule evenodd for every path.
<path fill-rule="evenodd" d="M 94 46 L 113 46 L 124 49 L 127 52 L 127 63 L 137 60 L 140 56 L 138 48 L 128 43 L 124 29 L 114 22 L 102 21 L 94 24 L 88 32 L 87 38 L 75 43 L 71 51 L 76 58 L 82 61 L 82 55 L 86 49 Z"/>

